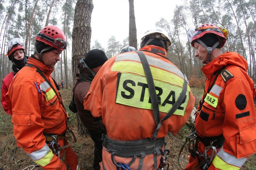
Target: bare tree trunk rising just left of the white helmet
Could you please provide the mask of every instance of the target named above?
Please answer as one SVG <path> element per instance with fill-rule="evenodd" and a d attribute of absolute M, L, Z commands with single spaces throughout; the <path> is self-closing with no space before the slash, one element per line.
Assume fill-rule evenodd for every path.
<path fill-rule="evenodd" d="M 137 49 L 137 29 L 133 0 L 129 0 L 129 45 Z"/>

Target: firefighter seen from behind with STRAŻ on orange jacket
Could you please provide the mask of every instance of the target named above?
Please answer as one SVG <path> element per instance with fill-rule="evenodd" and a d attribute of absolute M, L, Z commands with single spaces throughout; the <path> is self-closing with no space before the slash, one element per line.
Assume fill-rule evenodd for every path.
<path fill-rule="evenodd" d="M 161 120 L 178 100 L 187 83 L 186 76 L 167 59 L 171 45 L 161 28 L 148 30 L 141 40 L 157 94 L 156 117 Z M 84 109 L 100 117 L 107 129 L 104 137 L 101 169 L 157 169 L 164 151 L 167 132 L 177 134 L 194 107 L 189 86 L 174 114 L 157 124 L 148 83 L 138 51 L 112 57 L 103 64 L 91 83 Z M 158 125 L 158 126 L 157 126 Z M 158 127 L 158 128 L 157 128 Z M 158 135 L 154 131 L 158 130 Z"/>

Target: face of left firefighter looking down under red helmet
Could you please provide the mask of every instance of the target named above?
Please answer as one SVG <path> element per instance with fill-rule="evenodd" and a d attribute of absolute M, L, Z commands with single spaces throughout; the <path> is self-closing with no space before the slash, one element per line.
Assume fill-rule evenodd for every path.
<path fill-rule="evenodd" d="M 55 64 L 60 60 L 59 55 L 61 54 L 61 50 L 56 49 L 53 51 L 45 52 L 42 54 L 42 60 L 48 68 L 54 68 Z"/>

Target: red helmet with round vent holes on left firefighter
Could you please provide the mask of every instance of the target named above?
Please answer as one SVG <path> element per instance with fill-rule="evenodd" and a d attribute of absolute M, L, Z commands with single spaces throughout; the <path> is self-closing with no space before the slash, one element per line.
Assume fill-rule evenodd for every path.
<path fill-rule="evenodd" d="M 35 36 L 36 41 L 44 42 L 54 48 L 64 50 L 67 42 L 64 33 L 56 26 L 48 25 Z"/>

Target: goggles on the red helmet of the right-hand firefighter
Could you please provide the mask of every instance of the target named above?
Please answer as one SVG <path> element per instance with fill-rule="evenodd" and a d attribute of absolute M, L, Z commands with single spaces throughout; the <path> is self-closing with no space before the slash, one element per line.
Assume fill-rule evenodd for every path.
<path fill-rule="evenodd" d="M 228 34 L 227 30 L 222 25 L 219 25 L 218 28 L 213 26 L 193 28 L 187 31 L 187 38 L 189 39 L 189 42 L 191 43 L 194 36 L 201 34 L 204 31 L 216 31 L 218 33 L 223 33 L 225 37 L 227 37 Z"/>

